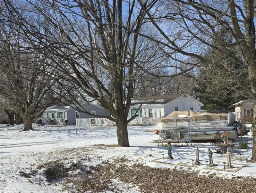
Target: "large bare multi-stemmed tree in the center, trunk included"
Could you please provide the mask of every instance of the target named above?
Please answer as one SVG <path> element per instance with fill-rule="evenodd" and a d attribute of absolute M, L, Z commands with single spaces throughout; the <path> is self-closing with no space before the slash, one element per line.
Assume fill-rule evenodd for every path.
<path fill-rule="evenodd" d="M 22 26 L 30 50 L 54 62 L 55 72 L 48 75 L 68 95 L 63 99 L 89 115 L 78 97 L 98 101 L 112 116 L 93 116 L 115 121 L 118 144 L 129 147 L 127 124 L 136 114 L 127 117 L 136 78 L 155 60 L 160 64 L 162 57 L 153 41 L 138 36 L 147 20 L 137 1 L 27 1 L 22 10 L 27 10 L 29 19 L 13 2 L 3 2 L 13 22 Z M 146 0 L 143 5 L 150 10 L 156 2 Z"/>

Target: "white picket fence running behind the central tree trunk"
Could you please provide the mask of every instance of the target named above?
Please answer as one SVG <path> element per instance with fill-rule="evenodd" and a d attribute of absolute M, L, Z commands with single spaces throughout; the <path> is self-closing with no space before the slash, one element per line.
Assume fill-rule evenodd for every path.
<path fill-rule="evenodd" d="M 137 117 L 133 119 L 128 125 L 156 125 L 158 122 L 157 118 L 151 117 Z M 76 119 L 77 126 L 100 126 L 100 125 L 115 125 L 115 122 L 107 118 L 86 118 Z"/>

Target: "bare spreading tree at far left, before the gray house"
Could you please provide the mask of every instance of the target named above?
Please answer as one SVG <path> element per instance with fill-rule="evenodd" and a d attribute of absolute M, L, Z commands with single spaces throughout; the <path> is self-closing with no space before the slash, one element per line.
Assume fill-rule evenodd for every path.
<path fill-rule="evenodd" d="M 46 65 L 49 60 L 22 49 L 26 44 L 19 33 L 21 28 L 12 22 L 10 15 L 4 15 L 4 9 L 0 11 L 0 95 L 10 123 L 14 124 L 16 114 L 18 124 L 21 115 L 27 131 L 33 129 L 34 119 L 57 102 L 51 90 L 55 82 L 46 74 L 51 68 Z"/>

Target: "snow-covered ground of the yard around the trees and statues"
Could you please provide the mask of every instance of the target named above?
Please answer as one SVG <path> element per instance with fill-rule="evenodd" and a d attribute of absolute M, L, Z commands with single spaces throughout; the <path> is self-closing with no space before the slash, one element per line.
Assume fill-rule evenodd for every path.
<path fill-rule="evenodd" d="M 247 125 L 250 128 L 251 125 Z M 166 147 L 158 147 L 154 140 L 158 135 L 150 132 L 155 126 L 141 127 L 129 126 L 130 148 L 124 147 L 104 147 L 92 146 L 95 144 L 117 144 L 116 128 L 108 126 L 76 127 L 67 126 L 66 128 L 48 127 L 34 125 L 37 131 L 20 132 L 22 125 L 9 127 L 0 125 L 0 192 L 61 192 L 61 183 L 48 183 L 43 173 L 39 169 L 31 178 L 24 178 L 19 172 L 30 173 L 37 165 L 45 164 L 53 160 L 65 160 L 67 164 L 81 161 L 86 155 L 88 159 L 82 159 L 85 165 L 97 165 L 101 161 L 123 157 L 133 160 L 132 163 L 142 163 L 150 167 L 176 168 L 189 171 L 199 171 L 200 175 L 215 173 L 219 177 L 231 178 L 234 176 L 252 176 L 256 178 L 255 163 L 248 163 L 246 159 L 252 156 L 251 133 L 243 137 L 249 143 L 249 149 L 237 150 L 242 155 L 232 151 L 232 161 L 235 164 L 250 164 L 243 167 L 236 173 L 207 170 L 206 162 L 207 149 L 216 148 L 210 143 L 192 143 L 190 147 L 178 146 L 173 149 L 174 160 L 167 161 L 173 164 L 178 163 L 178 158 L 186 165 L 192 165 L 195 159 L 196 148 L 200 150 L 200 160 L 203 165 L 197 167 L 185 167 L 177 165 L 167 165 L 152 162 L 153 159 L 167 156 Z M 11 136 L 11 139 L 10 139 Z M 176 145 L 176 144 L 174 144 Z M 179 144 L 181 145 L 181 144 Z M 214 150 L 213 150 L 214 152 Z M 152 154 L 152 157 L 147 157 Z M 159 161 L 163 161 L 160 159 Z M 165 160 L 166 161 L 166 160 Z M 213 154 L 213 161 L 218 164 L 217 168 L 224 168 L 226 155 Z M 60 180 L 61 181 L 61 180 Z M 134 187 L 115 180 L 115 184 L 124 192 L 137 192 Z"/>

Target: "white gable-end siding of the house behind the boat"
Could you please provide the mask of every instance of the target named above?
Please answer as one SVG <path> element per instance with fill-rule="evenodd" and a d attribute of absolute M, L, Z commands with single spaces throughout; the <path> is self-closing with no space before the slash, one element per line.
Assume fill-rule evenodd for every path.
<path fill-rule="evenodd" d="M 176 98 L 173 101 L 166 103 L 166 109 L 165 109 L 166 114 L 172 113 L 175 110 L 175 107 L 177 107 L 179 111 L 187 111 L 187 110 L 190 110 L 191 107 L 193 108 L 193 111 L 200 112 L 201 110 L 200 102 L 192 98 L 188 94 L 186 94 L 186 97 L 184 97 L 183 95 Z"/>

